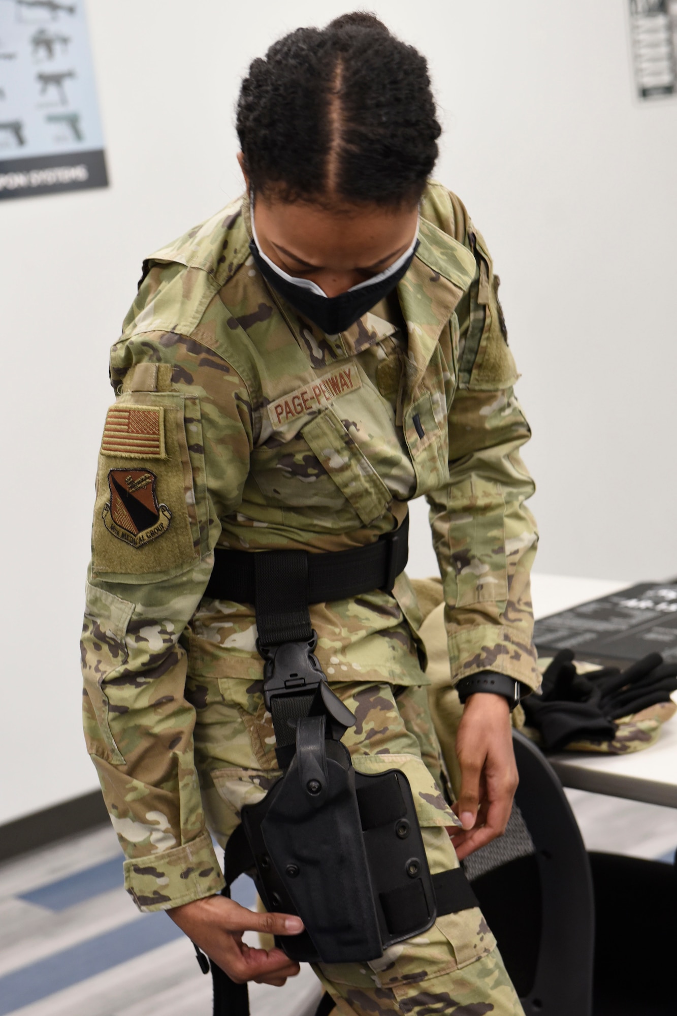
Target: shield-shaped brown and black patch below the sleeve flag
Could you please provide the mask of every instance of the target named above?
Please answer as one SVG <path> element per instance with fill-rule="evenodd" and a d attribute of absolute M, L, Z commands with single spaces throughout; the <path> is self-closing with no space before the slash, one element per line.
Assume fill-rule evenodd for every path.
<path fill-rule="evenodd" d="M 159 505 L 158 478 L 149 469 L 110 469 L 111 499 L 104 505 L 104 525 L 112 535 L 138 549 L 167 532 L 172 512 Z"/>

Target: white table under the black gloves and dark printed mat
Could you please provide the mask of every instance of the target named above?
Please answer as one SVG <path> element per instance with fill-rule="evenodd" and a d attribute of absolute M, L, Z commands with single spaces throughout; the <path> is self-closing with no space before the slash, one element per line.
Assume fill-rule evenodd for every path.
<path fill-rule="evenodd" d="M 547 617 L 631 584 L 536 574 L 534 614 Z M 677 692 L 673 698 L 677 702 Z M 630 755 L 561 752 L 549 755 L 548 760 L 564 786 L 677 808 L 677 716 L 664 725 L 658 743 L 644 751 Z"/>

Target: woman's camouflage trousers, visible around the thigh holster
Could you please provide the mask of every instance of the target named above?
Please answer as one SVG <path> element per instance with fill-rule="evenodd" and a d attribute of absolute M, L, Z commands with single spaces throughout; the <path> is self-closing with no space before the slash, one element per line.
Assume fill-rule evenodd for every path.
<path fill-rule="evenodd" d="M 334 683 L 355 713 L 344 737 L 355 768 L 402 769 L 414 792 L 430 869 L 456 868 L 445 826 L 457 824 L 440 792 L 440 754 L 426 689 Z M 244 804 L 261 800 L 281 775 L 260 682 L 189 679 L 197 707 L 195 757 L 208 823 L 223 843 Z M 315 972 L 336 1013 L 380 1016 L 524 1016 L 496 941 L 478 908 L 444 914 L 424 935 L 392 946 L 379 960 L 319 964 Z"/>

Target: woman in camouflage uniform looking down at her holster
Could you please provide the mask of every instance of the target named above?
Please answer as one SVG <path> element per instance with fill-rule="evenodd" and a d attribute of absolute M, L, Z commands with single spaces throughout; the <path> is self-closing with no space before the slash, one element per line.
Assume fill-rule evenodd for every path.
<path fill-rule="evenodd" d="M 326 562 L 353 555 L 351 594 L 304 594 L 315 657 L 355 715 L 343 739 L 355 769 L 406 773 L 439 873 L 509 815 L 509 700 L 538 682 L 536 532 L 498 278 L 464 205 L 429 181 L 440 128 L 424 58 L 366 14 L 298 29 L 252 63 L 237 128 L 246 196 L 144 262 L 112 350 L 85 731 L 139 908 L 168 910 L 233 980 L 281 985 L 298 964 L 248 949 L 242 932 L 294 935 L 301 922 L 219 895 L 207 832 L 225 843 L 281 776 L 285 729 L 257 647 L 301 578 L 278 565 L 238 592 L 257 581 L 245 565 L 308 552 L 323 581 Z M 399 571 L 402 539 L 381 552 L 420 495 L 466 699 L 453 811 L 416 597 L 404 572 L 370 579 L 365 557 L 376 548 Z M 307 598 L 290 610 L 307 620 Z M 487 672 L 499 694 L 471 694 Z M 381 959 L 315 969 L 344 1013 L 521 1012 L 473 907 Z"/>

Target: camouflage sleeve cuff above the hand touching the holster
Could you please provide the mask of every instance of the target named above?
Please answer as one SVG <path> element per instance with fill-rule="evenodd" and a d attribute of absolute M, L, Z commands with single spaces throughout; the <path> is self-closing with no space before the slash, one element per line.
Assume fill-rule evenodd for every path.
<path fill-rule="evenodd" d="M 124 873 L 125 889 L 143 912 L 213 896 L 225 885 L 207 832 L 173 850 L 125 861 Z"/>

